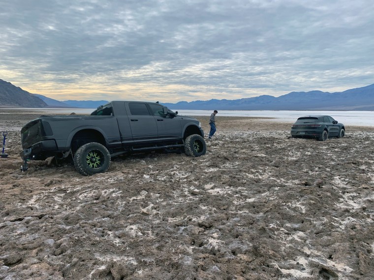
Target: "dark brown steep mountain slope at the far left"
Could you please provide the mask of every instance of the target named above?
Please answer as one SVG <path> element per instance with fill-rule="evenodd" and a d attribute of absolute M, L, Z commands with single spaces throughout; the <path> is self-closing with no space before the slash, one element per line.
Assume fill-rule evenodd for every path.
<path fill-rule="evenodd" d="M 0 79 L 0 106 L 2 107 L 29 107 L 44 108 L 48 105 L 21 87 Z"/>

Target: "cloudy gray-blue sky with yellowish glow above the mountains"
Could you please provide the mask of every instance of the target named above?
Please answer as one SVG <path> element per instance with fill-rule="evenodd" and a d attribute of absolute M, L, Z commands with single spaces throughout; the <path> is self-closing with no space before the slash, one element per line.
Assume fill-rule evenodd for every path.
<path fill-rule="evenodd" d="M 0 0 L 0 79 L 178 102 L 374 83 L 373 0 Z"/>

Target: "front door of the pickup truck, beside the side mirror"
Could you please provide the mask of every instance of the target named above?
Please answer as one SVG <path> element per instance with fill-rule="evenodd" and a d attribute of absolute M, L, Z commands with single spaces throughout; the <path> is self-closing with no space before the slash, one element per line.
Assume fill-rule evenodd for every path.
<path fill-rule="evenodd" d="M 148 103 L 151 113 L 154 115 L 157 124 L 158 140 L 181 139 L 182 126 L 179 116 L 165 115 L 162 106 L 155 103 Z"/>

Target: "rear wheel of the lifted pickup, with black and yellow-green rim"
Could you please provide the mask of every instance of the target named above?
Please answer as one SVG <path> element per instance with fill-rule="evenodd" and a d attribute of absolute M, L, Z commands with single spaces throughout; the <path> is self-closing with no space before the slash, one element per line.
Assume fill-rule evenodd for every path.
<path fill-rule="evenodd" d="M 110 166 L 110 154 L 99 143 L 87 143 L 78 148 L 74 155 L 74 166 L 83 175 L 103 173 Z"/>

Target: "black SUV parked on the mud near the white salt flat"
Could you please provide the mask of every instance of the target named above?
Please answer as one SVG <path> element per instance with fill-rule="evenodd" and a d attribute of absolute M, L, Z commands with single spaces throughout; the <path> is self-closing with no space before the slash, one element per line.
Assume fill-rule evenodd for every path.
<path fill-rule="evenodd" d="M 345 127 L 343 123 L 338 122 L 328 115 L 302 116 L 291 127 L 292 137 L 317 138 L 319 141 L 325 141 L 329 137 L 344 137 Z"/>

